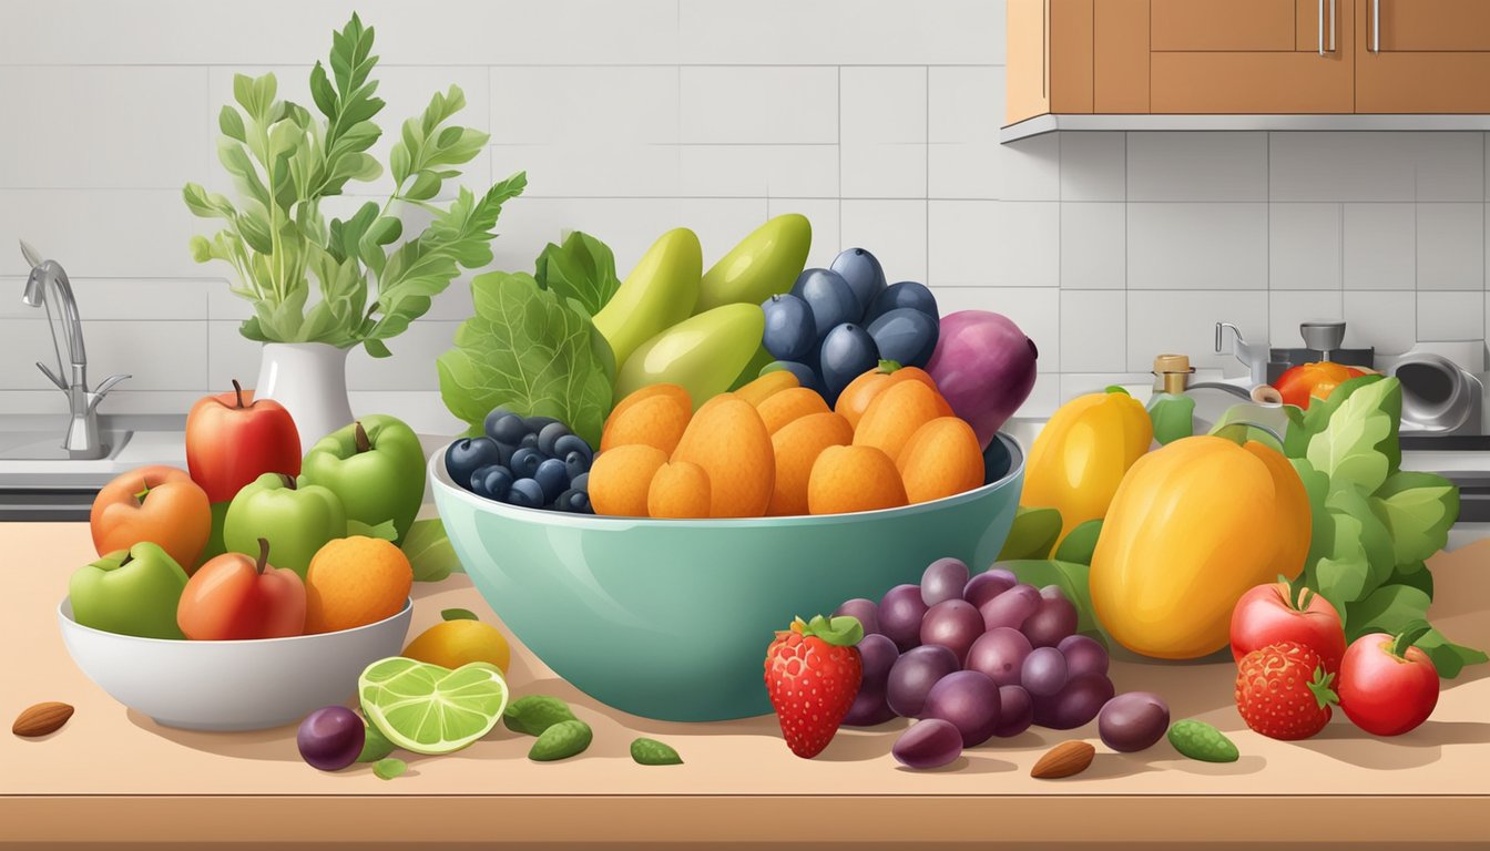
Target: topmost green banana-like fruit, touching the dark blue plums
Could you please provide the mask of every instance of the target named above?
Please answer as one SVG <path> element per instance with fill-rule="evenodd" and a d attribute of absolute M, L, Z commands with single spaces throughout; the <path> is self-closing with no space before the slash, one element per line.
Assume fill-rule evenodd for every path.
<path fill-rule="evenodd" d="M 699 283 L 694 313 L 721 304 L 760 304 L 791 289 L 812 247 L 812 224 L 799 213 L 776 216 L 720 258 Z"/>

